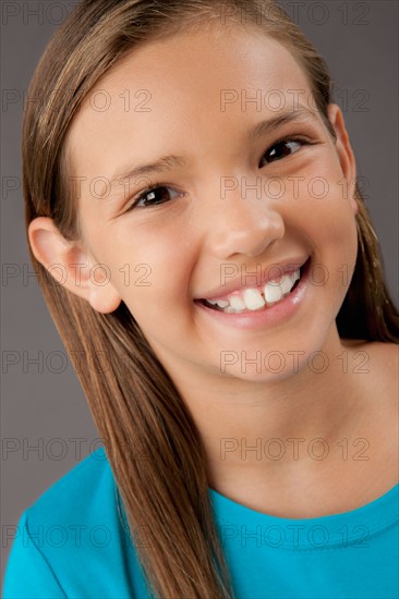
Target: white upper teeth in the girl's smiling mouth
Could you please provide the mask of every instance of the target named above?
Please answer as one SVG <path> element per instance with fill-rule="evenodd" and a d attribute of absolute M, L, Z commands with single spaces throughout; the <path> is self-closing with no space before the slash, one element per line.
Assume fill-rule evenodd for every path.
<path fill-rule="evenodd" d="M 285 274 L 281 279 L 267 282 L 259 291 L 255 288 L 243 290 L 239 295 L 229 295 L 226 300 L 207 300 L 208 304 L 219 308 L 231 308 L 232 310 L 257 310 L 265 305 L 271 306 L 288 295 L 300 278 L 300 269 Z"/>

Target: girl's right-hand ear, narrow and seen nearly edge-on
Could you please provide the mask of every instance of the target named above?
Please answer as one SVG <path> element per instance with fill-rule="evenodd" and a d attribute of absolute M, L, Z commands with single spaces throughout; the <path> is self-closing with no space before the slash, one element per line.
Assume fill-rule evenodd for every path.
<path fill-rule="evenodd" d="M 328 119 L 334 126 L 337 134 L 336 148 L 338 158 L 341 164 L 343 176 L 347 179 L 348 184 L 342 190 L 348 190 L 348 197 L 351 203 L 353 213 L 356 215 L 359 206 L 354 199 L 354 191 L 356 186 L 356 163 L 352 150 L 352 146 L 349 140 L 349 135 L 344 126 L 341 109 L 336 103 L 328 106 Z"/>

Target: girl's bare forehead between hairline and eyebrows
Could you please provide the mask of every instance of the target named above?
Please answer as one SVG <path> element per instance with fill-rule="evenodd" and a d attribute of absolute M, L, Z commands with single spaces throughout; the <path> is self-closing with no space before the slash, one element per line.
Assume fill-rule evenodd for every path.
<path fill-rule="evenodd" d="M 89 166 L 93 156 L 105 169 L 111 154 L 123 158 L 137 146 L 146 154 L 157 133 L 167 150 L 189 137 L 192 144 L 193 135 L 206 142 L 218 130 L 275 117 L 301 100 L 309 106 L 306 75 L 282 45 L 257 29 L 225 34 L 219 26 L 130 51 L 84 99 L 69 135 L 71 162 Z"/>

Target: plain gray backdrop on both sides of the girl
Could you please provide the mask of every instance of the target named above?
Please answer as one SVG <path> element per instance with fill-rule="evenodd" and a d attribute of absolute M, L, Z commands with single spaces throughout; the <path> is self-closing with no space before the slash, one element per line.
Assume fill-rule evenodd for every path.
<path fill-rule="evenodd" d="M 280 3 L 330 66 L 398 303 L 398 2 Z M 100 444 L 39 285 L 28 276 L 20 174 L 23 94 L 47 41 L 75 4 L 1 5 L 2 576 L 11 548 L 7 527 Z M 5 276 L 10 268 L 12 278 Z M 11 365 L 12 358 L 17 363 Z"/>

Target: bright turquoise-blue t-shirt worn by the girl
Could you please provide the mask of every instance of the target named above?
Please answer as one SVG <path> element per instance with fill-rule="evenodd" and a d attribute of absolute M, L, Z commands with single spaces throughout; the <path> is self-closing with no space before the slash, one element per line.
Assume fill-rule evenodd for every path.
<path fill-rule="evenodd" d="M 149 598 L 104 448 L 21 516 L 3 599 Z M 237 599 L 398 598 L 399 485 L 351 512 L 281 518 L 209 488 Z M 146 543 L 146 531 L 135 543 Z"/>

